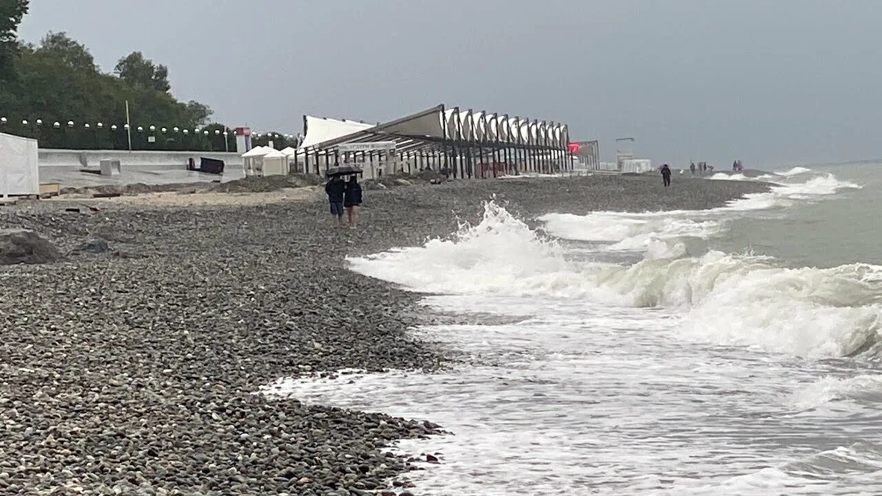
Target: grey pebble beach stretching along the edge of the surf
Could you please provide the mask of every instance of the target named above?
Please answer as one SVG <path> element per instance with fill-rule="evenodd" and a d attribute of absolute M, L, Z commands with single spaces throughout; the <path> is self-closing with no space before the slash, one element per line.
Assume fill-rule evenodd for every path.
<path fill-rule="evenodd" d="M 345 256 L 447 236 L 494 197 L 532 218 L 705 209 L 767 189 L 675 177 L 664 190 L 658 177 L 600 175 L 421 184 L 366 191 L 355 231 L 333 226 L 315 195 L 198 208 L 71 200 L 102 208 L 94 214 L 65 214 L 67 200 L 5 209 L 4 228 L 37 230 L 64 252 L 102 237 L 111 252 L 0 269 L 0 400 L 15 406 L 14 416 L 0 412 L 11 425 L 0 486 L 293 495 L 401 482 L 414 465 L 388 446 L 437 432 L 423 424 L 432 419 L 254 394 L 282 377 L 430 371 L 452 359 L 407 335 L 444 319 L 417 306 L 422 295 L 348 271 Z"/>

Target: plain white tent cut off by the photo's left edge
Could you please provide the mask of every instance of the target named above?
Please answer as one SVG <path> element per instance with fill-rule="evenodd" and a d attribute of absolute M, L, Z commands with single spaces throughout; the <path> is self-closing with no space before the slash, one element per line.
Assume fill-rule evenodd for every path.
<path fill-rule="evenodd" d="M 40 194 L 37 140 L 0 132 L 0 196 Z"/>

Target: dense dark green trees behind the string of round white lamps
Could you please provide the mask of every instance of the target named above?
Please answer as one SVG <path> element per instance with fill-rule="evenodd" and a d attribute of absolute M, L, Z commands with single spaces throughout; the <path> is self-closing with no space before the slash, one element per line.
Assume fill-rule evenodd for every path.
<path fill-rule="evenodd" d="M 104 72 L 86 46 L 65 33 L 50 32 L 38 44 L 20 41 L 27 8 L 28 0 L 0 2 L 0 132 L 36 138 L 48 148 L 126 149 L 131 132 L 132 149 L 235 150 L 232 130 L 212 123 L 212 109 L 178 101 L 168 67 L 141 52 Z"/>

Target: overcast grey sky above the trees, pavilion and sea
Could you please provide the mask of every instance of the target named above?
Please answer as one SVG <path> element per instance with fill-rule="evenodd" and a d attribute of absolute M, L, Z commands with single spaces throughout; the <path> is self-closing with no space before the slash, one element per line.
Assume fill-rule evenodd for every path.
<path fill-rule="evenodd" d="M 637 138 L 655 162 L 882 157 L 882 2 L 32 0 L 104 71 L 132 50 L 218 120 L 299 132 L 445 103 Z"/>

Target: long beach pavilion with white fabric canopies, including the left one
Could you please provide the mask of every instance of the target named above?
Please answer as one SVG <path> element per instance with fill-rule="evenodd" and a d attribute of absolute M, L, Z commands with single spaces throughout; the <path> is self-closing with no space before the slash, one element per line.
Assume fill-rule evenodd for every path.
<path fill-rule="evenodd" d="M 321 174 L 355 164 L 365 177 L 433 169 L 453 178 L 572 170 L 566 124 L 437 105 L 387 123 L 303 116 L 294 162 Z"/>

